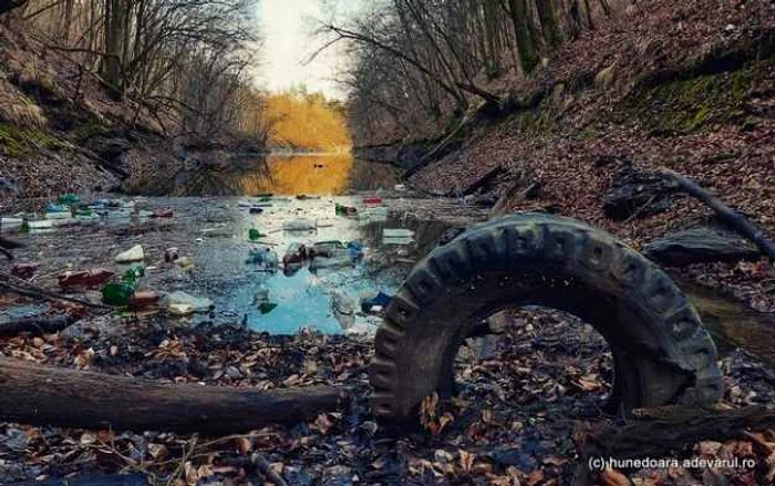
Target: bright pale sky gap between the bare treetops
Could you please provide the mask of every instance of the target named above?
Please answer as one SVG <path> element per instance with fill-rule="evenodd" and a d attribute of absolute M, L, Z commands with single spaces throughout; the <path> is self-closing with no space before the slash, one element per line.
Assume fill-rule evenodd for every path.
<path fill-rule="evenodd" d="M 347 0 L 358 2 L 358 0 Z M 304 65 L 321 39 L 312 35 L 316 19 L 331 14 L 327 0 L 260 0 L 259 21 L 264 49 L 258 82 L 270 91 L 303 83 L 308 91 L 342 99 L 333 79 L 344 63 L 341 49 L 329 49 Z"/>

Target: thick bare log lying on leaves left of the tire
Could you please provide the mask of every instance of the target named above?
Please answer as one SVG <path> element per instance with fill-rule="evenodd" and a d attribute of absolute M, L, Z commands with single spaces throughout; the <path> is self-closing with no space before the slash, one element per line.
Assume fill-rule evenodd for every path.
<path fill-rule="evenodd" d="M 0 358 L 0 422 L 31 425 L 223 435 L 314 418 L 342 393 L 166 384 Z"/>

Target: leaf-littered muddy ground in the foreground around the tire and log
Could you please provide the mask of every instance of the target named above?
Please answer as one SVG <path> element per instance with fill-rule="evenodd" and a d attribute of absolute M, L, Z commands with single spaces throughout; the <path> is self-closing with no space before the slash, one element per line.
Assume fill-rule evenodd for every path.
<path fill-rule="evenodd" d="M 493 338 L 485 354 L 463 349 L 453 409 L 441 415 L 431 406 L 426 431 L 399 437 L 385 434 L 369 412 L 370 340 L 309 331 L 272 337 L 158 318 L 103 318 L 79 333 L 3 339 L 3 354 L 50 365 L 170 383 L 328 384 L 351 392 L 341 410 L 309 423 L 227 437 L 3 424 L 0 484 L 117 473 L 154 485 L 266 484 L 250 461 L 255 452 L 291 485 L 569 484 L 586 435 L 616 420 L 601 411 L 610 393 L 610 353 L 591 327 L 569 316 L 515 311 L 509 320 L 516 325 Z M 773 404 L 773 373 L 761 363 L 736 351 L 722 369 L 721 406 Z M 600 484 L 763 485 L 773 465 L 772 451 L 761 444 L 771 442 L 772 434 L 705 441 L 673 457 L 747 458 L 755 468 L 611 471 Z"/>

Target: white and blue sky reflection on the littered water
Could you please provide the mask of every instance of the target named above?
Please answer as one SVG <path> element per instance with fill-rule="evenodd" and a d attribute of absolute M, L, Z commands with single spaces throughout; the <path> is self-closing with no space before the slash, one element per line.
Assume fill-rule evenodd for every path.
<path fill-rule="evenodd" d="M 192 256 L 197 261 L 198 275 L 205 277 L 198 283 L 205 283 L 205 288 L 192 288 L 190 292 L 213 299 L 217 309 L 244 317 L 252 329 L 272 333 L 293 333 L 302 327 L 330 333 L 342 332 L 342 324 L 333 311 L 334 296 L 338 294 L 340 304 L 344 302 L 355 309 L 354 322 L 365 325 L 369 318 L 360 313 L 362 298 L 379 291 L 394 293 L 411 269 L 412 261 L 436 245 L 448 224 L 423 221 L 394 213 L 384 219 L 373 220 L 366 216 L 368 208 L 361 199 L 272 198 L 271 206 L 260 215 L 237 209 L 232 221 L 224 226 L 226 234 L 246 235 L 250 228 L 258 228 L 268 236 L 255 242 L 241 238 L 207 238 L 195 246 Z M 337 203 L 359 206 L 359 216 L 335 216 L 333 209 Z M 300 217 L 327 221 L 327 225 L 304 231 L 283 229 L 288 221 Z M 383 237 L 385 229 L 395 228 L 410 230 L 413 238 L 401 245 L 386 242 Z M 273 250 L 277 258 L 282 260 L 292 245 L 310 248 L 321 241 L 333 240 L 342 245 L 359 241 L 363 247 L 363 257 L 326 267 L 320 266 L 320 259 L 316 258 L 304 261 L 293 271 L 283 271 L 282 266 L 267 271 L 252 261 L 246 262 L 250 260 L 251 250 L 258 248 Z M 257 306 L 259 294 L 266 296 L 277 307 L 264 312 Z"/>

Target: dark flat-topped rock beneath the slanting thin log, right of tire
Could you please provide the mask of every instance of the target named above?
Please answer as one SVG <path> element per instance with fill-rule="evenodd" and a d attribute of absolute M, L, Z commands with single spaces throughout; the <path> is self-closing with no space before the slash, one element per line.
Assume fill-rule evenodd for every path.
<path fill-rule="evenodd" d="M 668 234 L 647 245 L 643 255 L 673 267 L 711 261 L 756 260 L 760 257 L 756 247 L 743 237 L 712 227 Z"/>

